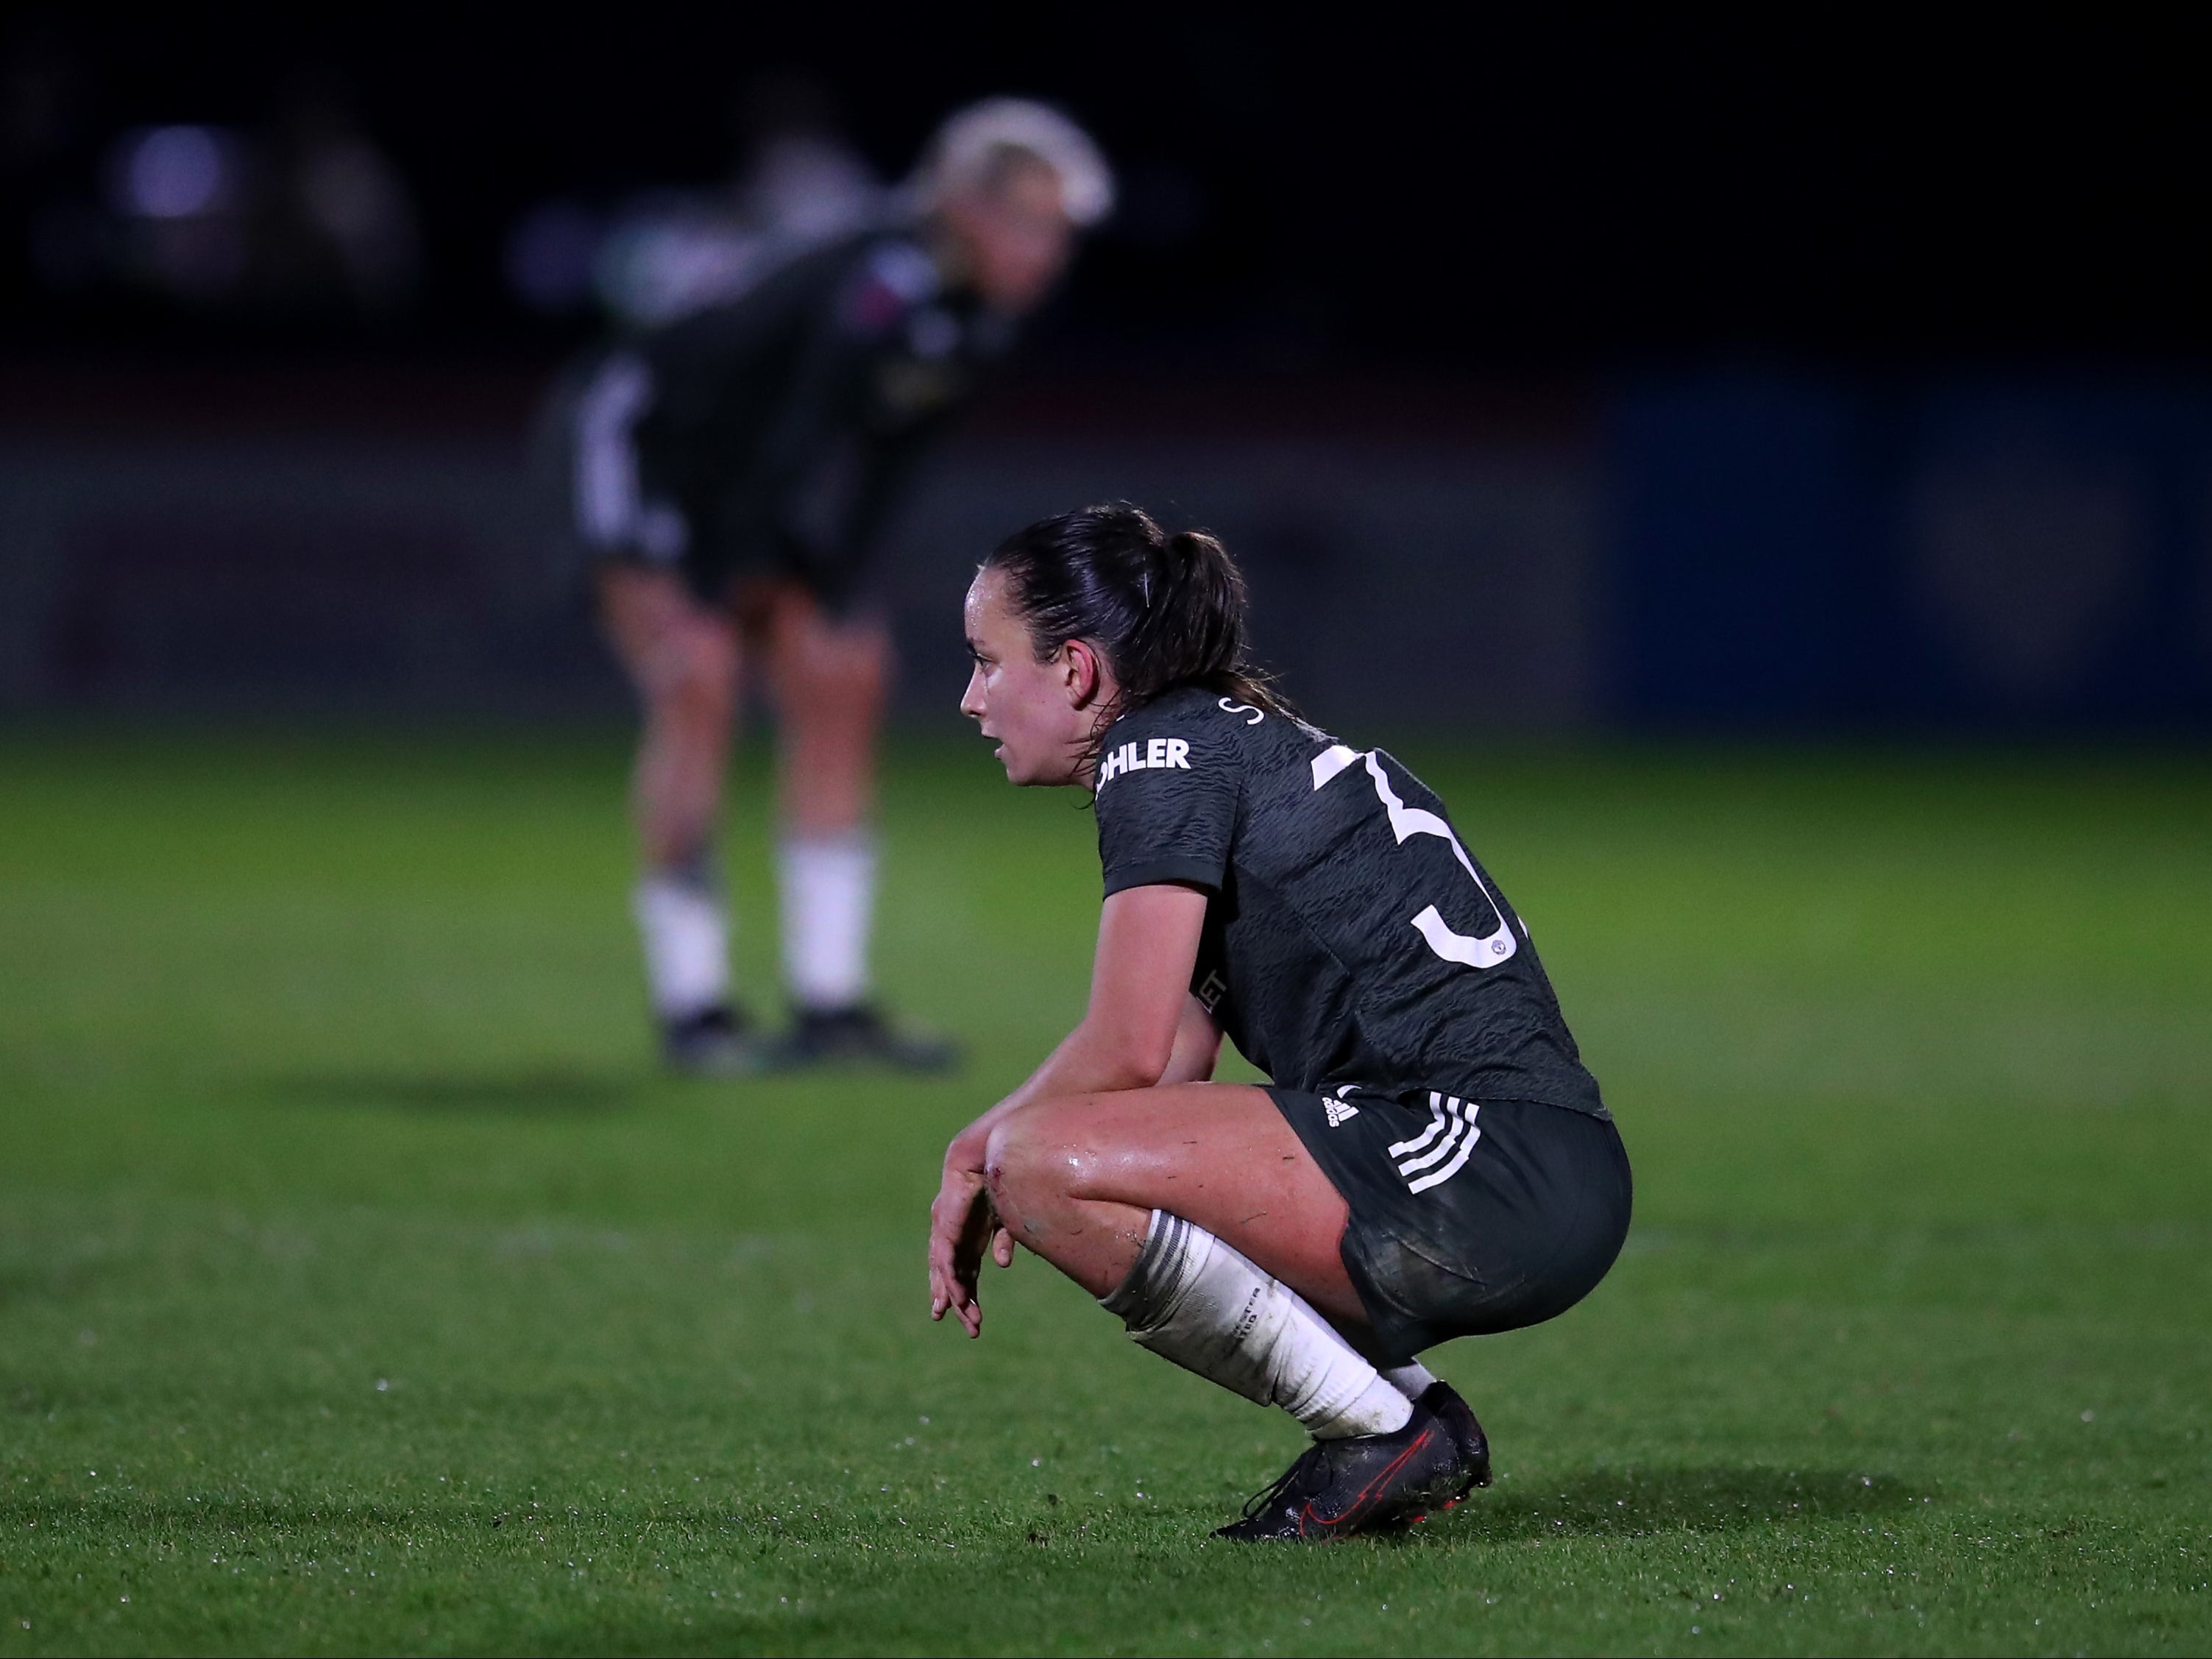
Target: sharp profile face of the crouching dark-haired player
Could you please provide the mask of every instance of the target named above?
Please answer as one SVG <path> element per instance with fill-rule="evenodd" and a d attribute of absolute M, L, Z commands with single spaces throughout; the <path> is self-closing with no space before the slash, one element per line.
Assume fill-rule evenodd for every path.
<path fill-rule="evenodd" d="M 1004 575 L 984 571 L 967 597 L 969 675 L 960 712 L 998 739 L 1009 783 L 1082 783 L 1082 752 L 1110 697 L 1097 657 L 1075 641 L 1037 661 L 1029 628 L 1006 604 Z"/>

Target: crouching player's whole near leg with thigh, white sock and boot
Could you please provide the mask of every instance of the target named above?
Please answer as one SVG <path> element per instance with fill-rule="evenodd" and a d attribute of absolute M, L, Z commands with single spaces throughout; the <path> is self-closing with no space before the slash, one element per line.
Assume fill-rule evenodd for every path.
<path fill-rule="evenodd" d="M 1416 1360 L 1376 1369 L 1338 1252 L 1349 1210 L 1259 1088 L 1024 1106 L 993 1128 L 984 1179 L 1006 1237 L 1121 1314 L 1130 1336 L 1314 1431 L 1225 1537 L 1340 1537 L 1486 1484 L 1467 1402 Z"/>

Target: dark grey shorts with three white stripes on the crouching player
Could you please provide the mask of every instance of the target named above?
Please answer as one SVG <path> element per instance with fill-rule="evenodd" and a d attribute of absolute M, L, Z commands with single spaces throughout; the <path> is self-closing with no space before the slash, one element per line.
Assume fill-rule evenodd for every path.
<path fill-rule="evenodd" d="M 1352 1208 L 1343 1259 L 1385 1363 L 1540 1325 L 1628 1237 L 1628 1152 L 1606 1117 L 1533 1099 L 1270 1088 Z"/>

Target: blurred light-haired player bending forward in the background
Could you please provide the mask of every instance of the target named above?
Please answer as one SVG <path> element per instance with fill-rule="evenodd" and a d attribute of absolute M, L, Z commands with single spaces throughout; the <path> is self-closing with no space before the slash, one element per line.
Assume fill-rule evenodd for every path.
<path fill-rule="evenodd" d="M 566 394 L 575 535 L 644 703 L 635 914 L 670 1066 L 951 1064 L 947 1044 L 891 1031 L 869 1000 L 891 664 L 867 557 L 914 462 L 1110 204 L 1104 157 L 1064 115 L 975 104 L 945 122 L 874 226 L 633 334 Z M 754 670 L 779 732 L 794 1022 L 776 1042 L 732 998 L 714 867 L 723 763 Z"/>

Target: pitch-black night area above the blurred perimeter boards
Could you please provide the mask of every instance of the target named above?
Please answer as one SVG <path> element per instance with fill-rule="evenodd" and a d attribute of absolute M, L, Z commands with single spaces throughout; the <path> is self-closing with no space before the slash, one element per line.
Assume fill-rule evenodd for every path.
<path fill-rule="evenodd" d="M 551 192 L 708 181 L 761 71 L 821 77 L 885 170 L 949 104 L 1064 102 L 1126 170 L 1062 352 L 1223 367 L 1586 372 L 1639 354 L 2199 361 L 2203 27 L 2013 18 L 1438 22 L 914 9 L 148 13 L 9 24 L 9 197 L 88 190 L 142 122 L 272 115 L 343 82 L 418 192 L 414 341 L 529 347 L 498 281 Z M 38 292 L 20 345 L 206 330 Z"/>

